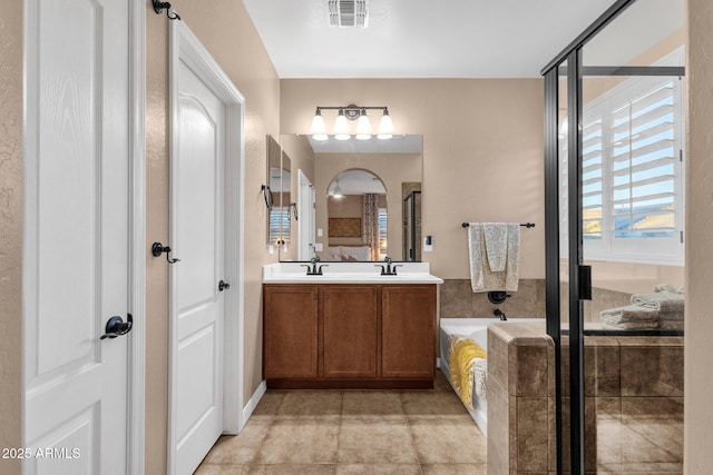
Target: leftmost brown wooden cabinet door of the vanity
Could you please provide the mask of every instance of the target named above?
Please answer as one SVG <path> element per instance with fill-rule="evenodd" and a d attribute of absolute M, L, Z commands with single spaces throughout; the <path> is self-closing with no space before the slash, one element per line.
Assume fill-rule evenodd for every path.
<path fill-rule="evenodd" d="M 265 378 L 318 377 L 318 287 L 265 286 Z"/>

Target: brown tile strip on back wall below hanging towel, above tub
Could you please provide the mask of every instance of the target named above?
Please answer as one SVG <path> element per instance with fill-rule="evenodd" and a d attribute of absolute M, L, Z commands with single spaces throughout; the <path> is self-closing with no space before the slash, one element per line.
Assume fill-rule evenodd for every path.
<path fill-rule="evenodd" d="M 492 318 L 499 308 L 508 317 L 545 317 L 545 280 L 520 279 L 518 290 L 504 304 L 495 305 L 488 294 L 473 294 L 469 279 L 445 279 L 440 286 L 441 318 Z"/>

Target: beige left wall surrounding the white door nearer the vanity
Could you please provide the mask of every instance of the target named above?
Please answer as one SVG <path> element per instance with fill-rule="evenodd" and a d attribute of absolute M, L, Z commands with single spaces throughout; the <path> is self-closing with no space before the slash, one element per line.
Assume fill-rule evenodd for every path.
<path fill-rule="evenodd" d="M 275 261 L 265 245 L 266 136 L 279 137 L 280 81 L 240 0 L 172 2 L 245 97 L 245 384 L 244 402 L 262 382 L 262 270 Z M 148 6 L 148 2 L 147 2 Z M 168 243 L 168 23 L 147 7 L 147 231 Z M 148 249 L 148 246 L 147 246 Z M 146 473 L 166 472 L 168 400 L 168 268 L 147 253 Z"/>

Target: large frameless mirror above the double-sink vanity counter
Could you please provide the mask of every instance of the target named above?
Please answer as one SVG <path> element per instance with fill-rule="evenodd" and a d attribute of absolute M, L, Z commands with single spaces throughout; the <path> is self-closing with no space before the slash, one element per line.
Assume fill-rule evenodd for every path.
<path fill-rule="evenodd" d="M 389 140 L 335 140 L 330 136 L 318 141 L 311 136 L 283 135 L 280 145 L 292 157 L 292 176 L 309 180 L 314 200 L 314 222 L 310 225 L 310 217 L 304 216 L 299 224 L 300 228 L 313 227 L 310 239 L 314 243 L 303 246 L 292 232 L 291 248 L 309 254 L 281 249 L 280 260 L 313 256 L 323 261 L 383 260 L 387 256 L 420 260 L 421 136 Z M 418 200 L 413 200 L 414 191 Z"/>

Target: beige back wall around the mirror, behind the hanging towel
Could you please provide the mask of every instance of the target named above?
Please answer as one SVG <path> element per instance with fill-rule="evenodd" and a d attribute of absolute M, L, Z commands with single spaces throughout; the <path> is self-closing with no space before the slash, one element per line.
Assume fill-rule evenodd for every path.
<path fill-rule="evenodd" d="M 283 79 L 282 133 L 307 133 L 318 105 L 348 103 L 388 106 L 395 133 L 423 135 L 422 235 L 434 246 L 422 259 L 433 274 L 468 277 L 462 221 L 533 221 L 520 276 L 544 278 L 540 79 Z"/>

